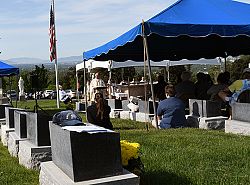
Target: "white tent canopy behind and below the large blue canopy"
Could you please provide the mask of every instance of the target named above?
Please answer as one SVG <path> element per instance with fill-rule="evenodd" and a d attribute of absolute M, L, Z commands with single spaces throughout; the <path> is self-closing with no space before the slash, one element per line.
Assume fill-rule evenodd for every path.
<path fill-rule="evenodd" d="M 188 64 L 199 64 L 199 65 L 220 65 L 220 60 L 218 58 L 215 59 L 199 59 L 199 60 L 180 60 L 180 61 L 169 61 L 164 60 L 161 62 L 150 62 L 152 67 L 168 67 L 168 66 L 177 66 L 177 65 L 188 65 Z M 94 68 L 106 68 L 106 69 L 115 69 L 115 68 L 124 68 L 124 67 L 143 67 L 144 62 L 134 62 L 132 60 L 128 60 L 126 62 L 115 62 L 115 61 L 95 61 L 88 60 L 85 62 L 86 69 L 94 69 Z M 84 69 L 84 62 L 76 65 L 76 71 Z"/>

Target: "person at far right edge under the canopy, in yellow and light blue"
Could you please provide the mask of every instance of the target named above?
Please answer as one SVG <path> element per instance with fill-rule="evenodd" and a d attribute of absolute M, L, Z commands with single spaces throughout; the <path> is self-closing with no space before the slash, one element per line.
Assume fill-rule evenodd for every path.
<path fill-rule="evenodd" d="M 242 74 L 243 80 L 236 80 L 230 86 L 219 92 L 219 96 L 222 100 L 233 104 L 238 101 L 238 97 L 241 93 L 250 89 L 250 68 L 245 68 Z M 230 94 L 232 94 L 230 96 Z M 250 102 L 245 102 L 250 103 Z"/>

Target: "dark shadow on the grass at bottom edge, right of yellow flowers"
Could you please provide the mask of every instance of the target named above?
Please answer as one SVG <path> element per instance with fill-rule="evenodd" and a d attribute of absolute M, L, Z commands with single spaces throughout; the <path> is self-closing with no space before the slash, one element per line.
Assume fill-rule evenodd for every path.
<path fill-rule="evenodd" d="M 140 185 L 191 185 L 187 177 L 165 171 L 144 172 Z"/>

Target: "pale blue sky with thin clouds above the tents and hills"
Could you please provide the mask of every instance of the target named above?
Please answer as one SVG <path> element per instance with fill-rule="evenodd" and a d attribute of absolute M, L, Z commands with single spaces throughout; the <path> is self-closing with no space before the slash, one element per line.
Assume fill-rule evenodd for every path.
<path fill-rule="evenodd" d="M 241 0 L 250 3 L 250 0 Z M 176 0 L 55 0 L 58 57 L 79 56 Z M 1 59 L 49 59 L 50 0 L 1 0 Z"/>

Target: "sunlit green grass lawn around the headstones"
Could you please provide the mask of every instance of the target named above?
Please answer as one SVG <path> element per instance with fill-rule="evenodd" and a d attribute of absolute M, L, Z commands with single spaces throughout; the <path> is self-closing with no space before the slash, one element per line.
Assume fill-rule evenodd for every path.
<path fill-rule="evenodd" d="M 48 108 L 52 102 L 39 105 Z M 141 144 L 143 185 L 250 184 L 250 137 L 193 128 L 147 131 L 144 123 L 130 120 L 112 123 L 121 139 Z M 38 176 L 0 145 L 0 184 L 38 184 Z"/>

